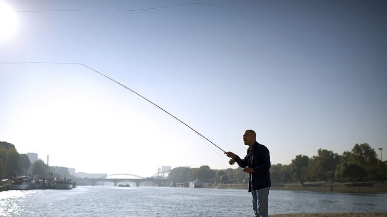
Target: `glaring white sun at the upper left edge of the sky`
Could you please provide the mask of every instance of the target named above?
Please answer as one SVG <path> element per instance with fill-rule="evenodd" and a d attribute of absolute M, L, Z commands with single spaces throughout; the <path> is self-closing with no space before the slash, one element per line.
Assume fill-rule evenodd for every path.
<path fill-rule="evenodd" d="M 10 38 L 18 24 L 16 14 L 4 1 L 0 0 L 0 41 Z"/>

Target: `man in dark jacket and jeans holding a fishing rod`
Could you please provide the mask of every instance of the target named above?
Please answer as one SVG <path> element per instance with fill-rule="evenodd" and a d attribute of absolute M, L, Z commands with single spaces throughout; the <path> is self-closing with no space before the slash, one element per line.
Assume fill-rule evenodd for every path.
<path fill-rule="evenodd" d="M 249 146 L 243 159 L 233 152 L 226 152 L 243 168 L 243 172 L 249 173 L 249 191 L 253 196 L 253 210 L 256 217 L 268 217 L 268 196 L 271 186 L 270 180 L 270 154 L 269 150 L 256 141 L 256 133 L 246 130 L 243 134 L 243 142 Z"/>

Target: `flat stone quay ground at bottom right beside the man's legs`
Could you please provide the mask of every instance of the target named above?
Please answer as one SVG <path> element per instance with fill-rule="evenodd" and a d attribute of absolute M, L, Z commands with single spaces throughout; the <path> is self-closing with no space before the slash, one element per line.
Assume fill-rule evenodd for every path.
<path fill-rule="evenodd" d="M 387 213 L 292 213 L 270 217 L 387 217 Z"/>

